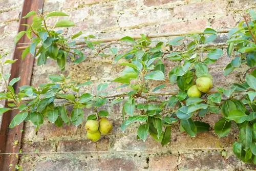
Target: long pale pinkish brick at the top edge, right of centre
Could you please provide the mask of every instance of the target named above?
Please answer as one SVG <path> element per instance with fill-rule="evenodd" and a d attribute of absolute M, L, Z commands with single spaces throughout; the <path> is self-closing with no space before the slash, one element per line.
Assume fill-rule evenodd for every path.
<path fill-rule="evenodd" d="M 195 18 L 205 15 L 225 13 L 226 2 L 210 1 L 195 4 L 187 4 L 174 8 L 174 14 L 180 18 Z"/>

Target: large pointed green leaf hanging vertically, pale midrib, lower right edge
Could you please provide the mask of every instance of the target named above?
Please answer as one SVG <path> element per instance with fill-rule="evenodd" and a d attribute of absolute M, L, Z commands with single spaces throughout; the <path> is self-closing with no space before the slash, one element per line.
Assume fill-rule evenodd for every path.
<path fill-rule="evenodd" d="M 245 149 L 250 148 L 252 142 L 252 131 L 249 123 L 240 129 L 239 140 Z"/>

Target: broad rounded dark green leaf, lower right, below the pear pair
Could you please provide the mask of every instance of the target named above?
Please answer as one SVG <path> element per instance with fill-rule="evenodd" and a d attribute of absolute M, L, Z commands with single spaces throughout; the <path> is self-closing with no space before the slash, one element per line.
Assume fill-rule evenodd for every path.
<path fill-rule="evenodd" d="M 221 138 L 225 137 L 229 134 L 231 130 L 231 122 L 227 121 L 225 118 L 221 118 L 218 122 L 214 125 L 215 133 Z"/>

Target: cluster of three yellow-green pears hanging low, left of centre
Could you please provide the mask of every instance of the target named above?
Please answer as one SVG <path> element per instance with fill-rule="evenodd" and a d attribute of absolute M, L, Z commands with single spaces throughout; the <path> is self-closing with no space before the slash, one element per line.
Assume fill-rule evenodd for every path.
<path fill-rule="evenodd" d="M 113 124 L 107 118 L 100 118 L 100 120 L 88 120 L 86 122 L 86 137 L 93 142 L 100 140 L 101 135 L 111 133 Z"/>

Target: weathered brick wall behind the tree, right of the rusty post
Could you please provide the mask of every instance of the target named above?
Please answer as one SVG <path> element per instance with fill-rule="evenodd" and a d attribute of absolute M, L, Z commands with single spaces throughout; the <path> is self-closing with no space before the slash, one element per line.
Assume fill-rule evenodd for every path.
<path fill-rule="evenodd" d="M 243 13 L 255 5 L 251 0 L 45 0 L 44 13 L 57 10 L 69 13 L 76 27 L 66 30 L 67 35 L 83 30 L 84 35 L 94 34 L 103 38 L 140 33 L 190 32 L 203 30 L 206 27 L 232 28 L 240 22 Z M 8 12 L 12 13 L 11 11 Z M 0 13 L 0 16 L 13 20 L 8 14 Z M 54 22 L 55 19 L 52 19 L 48 24 Z M 6 27 L 14 23 L 10 22 Z M 12 29 L 15 27 L 12 26 Z M 2 30 L 0 27 L 1 34 Z M 12 39 L 14 34 L 15 31 L 8 36 L 8 39 Z M 216 42 L 223 42 L 226 37 L 225 34 L 220 34 Z M 8 39 L 6 38 L 7 41 Z M 163 41 L 168 39 L 170 38 L 161 38 Z M 228 86 L 231 81 L 239 81 L 241 73 L 243 74 L 243 71 L 238 71 L 224 77 L 222 72 L 228 60 L 224 55 L 215 65 L 210 66 L 216 86 Z M 175 63 L 166 61 L 165 64 L 167 76 Z M 79 82 L 93 80 L 97 85 L 117 77 L 121 69 L 112 58 L 93 57 L 79 65 L 69 63 L 65 74 L 71 75 L 72 79 Z M 51 60 L 45 66 L 34 66 L 33 86 L 49 81 L 47 75 L 56 73 L 59 73 L 59 69 Z M 168 84 L 167 81 L 166 83 Z M 110 88 L 113 87 L 115 84 L 111 83 Z M 90 91 L 94 92 L 95 87 Z M 106 104 L 102 107 L 110 112 L 114 130 L 111 135 L 102 137 L 97 143 L 85 138 L 86 132 L 83 126 L 66 125 L 58 128 L 45 121 L 35 135 L 33 125 L 27 123 L 24 130 L 23 152 L 42 152 L 42 154 L 23 155 L 20 166 L 24 170 L 255 169 L 255 166 L 246 165 L 232 155 L 230 147 L 237 138 L 236 129 L 229 136 L 221 139 L 213 131 L 191 138 L 180 133 L 177 126 L 173 128 L 172 141 L 162 147 L 152 138 L 148 138 L 145 143 L 136 140 L 138 125 L 130 126 L 125 133 L 122 133 L 121 106 Z M 84 111 L 86 116 L 92 113 L 91 110 Z M 212 114 L 201 120 L 213 127 L 219 118 L 219 115 Z M 225 152 L 221 148 L 225 148 Z M 79 151 L 86 153 L 71 153 Z"/>

